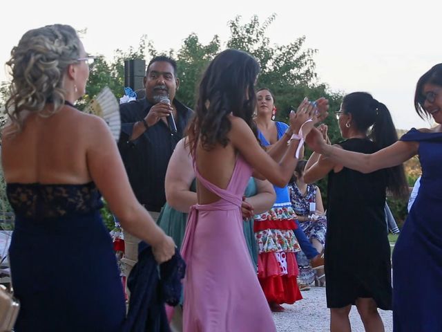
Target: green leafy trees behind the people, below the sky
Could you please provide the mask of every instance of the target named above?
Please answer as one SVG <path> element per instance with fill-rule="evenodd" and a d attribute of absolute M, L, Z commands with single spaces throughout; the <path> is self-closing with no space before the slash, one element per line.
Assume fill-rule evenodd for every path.
<path fill-rule="evenodd" d="M 109 86 L 117 98 L 121 97 L 124 94 L 124 60 L 146 59 L 146 56 L 151 58 L 161 54 L 174 57 L 177 60 L 178 77 L 180 78 L 177 98 L 189 107 L 193 107 L 202 73 L 213 57 L 224 49 L 222 45 L 225 45 L 227 48 L 247 51 L 256 57 L 261 67 L 257 87 L 265 86 L 271 89 L 275 95 L 278 109 L 277 120 L 288 122 L 289 111 L 296 109 L 305 96 L 309 100 L 316 100 L 320 97 L 327 98 L 331 114 L 324 123 L 328 125 L 329 138 L 332 143 L 339 142 L 342 138 L 332 112 L 339 109 L 343 93 L 332 92 L 329 86 L 318 82 L 314 62 L 317 50 L 305 48 L 305 36 L 297 37 L 293 42 L 285 45 L 271 44 L 271 40 L 267 37 L 267 30 L 275 19 L 276 15 L 273 14 L 261 24 L 255 15 L 244 23 L 242 17 L 237 16 L 228 22 L 230 36 L 226 44 L 222 44 L 218 35 L 215 35 L 208 44 L 204 45 L 200 42 L 198 35 L 192 33 L 184 39 L 177 52 L 173 49 L 166 52 L 158 51 L 146 35 L 143 35 L 136 48 L 131 47 L 126 52 L 115 50 L 112 60 L 105 59 L 102 55 L 97 57 L 95 65 L 90 70 L 87 94 L 77 102 L 77 106 L 82 109 L 104 86 Z M 86 31 L 81 33 L 84 34 Z M 0 109 L 7 96 L 8 84 L 1 84 Z M 310 155 L 311 151 L 305 151 L 305 158 Z M 412 165 L 411 168 L 415 170 L 416 165 Z M 410 172 L 409 181 L 414 183 L 413 180 L 416 177 L 416 172 Z M 1 184 L 4 184 L 4 181 Z M 326 205 L 327 178 L 318 181 L 317 184 Z M 6 197 L 1 196 L 4 192 L 2 189 L 0 187 L 0 201 L 7 203 Z M 402 201 L 392 199 L 389 202 L 394 216 L 401 221 L 405 215 L 403 210 L 405 205 Z M 113 216 L 108 210 L 107 204 L 102 209 L 102 215 L 106 226 L 112 229 Z"/>

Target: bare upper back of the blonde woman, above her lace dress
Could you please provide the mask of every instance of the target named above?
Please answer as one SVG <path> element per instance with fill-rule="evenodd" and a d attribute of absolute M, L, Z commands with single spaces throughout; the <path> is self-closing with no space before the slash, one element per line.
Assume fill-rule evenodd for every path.
<path fill-rule="evenodd" d="M 2 164 L 7 183 L 88 183 L 87 151 L 98 118 L 65 106 L 50 117 L 30 114 L 23 130 L 3 130 Z"/>

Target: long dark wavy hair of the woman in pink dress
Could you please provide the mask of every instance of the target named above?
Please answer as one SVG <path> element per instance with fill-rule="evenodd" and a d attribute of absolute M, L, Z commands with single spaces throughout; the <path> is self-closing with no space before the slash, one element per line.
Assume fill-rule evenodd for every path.
<path fill-rule="evenodd" d="M 253 111 L 256 108 L 254 85 L 259 71 L 256 59 L 241 50 L 224 50 L 211 61 L 202 76 L 195 116 L 189 124 L 192 154 L 198 140 L 206 150 L 217 144 L 223 147 L 228 144 L 230 113 L 247 122 L 257 136 Z"/>

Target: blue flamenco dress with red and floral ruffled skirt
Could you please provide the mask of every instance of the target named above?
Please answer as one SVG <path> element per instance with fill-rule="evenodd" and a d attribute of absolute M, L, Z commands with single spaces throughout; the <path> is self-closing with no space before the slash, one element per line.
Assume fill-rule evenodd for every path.
<path fill-rule="evenodd" d="M 287 124 L 275 122 L 278 140 Z M 258 133 L 262 145 L 269 145 Z M 258 279 L 268 302 L 292 304 L 302 299 L 298 288 L 299 274 L 295 252 L 300 251 L 294 230 L 297 228 L 287 187 L 276 187 L 276 202 L 268 212 L 255 216 L 253 230 L 258 242 Z"/>

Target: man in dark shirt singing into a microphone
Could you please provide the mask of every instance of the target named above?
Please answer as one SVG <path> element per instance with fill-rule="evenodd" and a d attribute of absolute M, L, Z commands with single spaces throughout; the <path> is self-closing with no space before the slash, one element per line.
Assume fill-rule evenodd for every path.
<path fill-rule="evenodd" d="M 154 57 L 144 77 L 146 98 L 120 106 L 118 148 L 135 196 L 155 221 L 166 203 L 164 178 L 169 159 L 193 114 L 175 99 L 179 86 L 175 60 Z M 124 232 L 127 275 L 137 261 L 139 242 Z"/>

